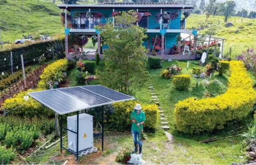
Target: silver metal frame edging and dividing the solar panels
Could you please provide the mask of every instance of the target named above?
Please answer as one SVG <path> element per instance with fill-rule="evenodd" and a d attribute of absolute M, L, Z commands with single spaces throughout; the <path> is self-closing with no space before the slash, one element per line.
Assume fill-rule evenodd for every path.
<path fill-rule="evenodd" d="M 90 86 L 100 86 L 100 87 L 104 87 L 104 86 L 102 86 L 102 85 L 90 85 Z M 115 91 L 115 90 L 113 90 L 113 89 L 110 89 L 110 88 L 107 88 L 107 87 L 104 87 L 104 88 L 110 89 L 110 90 L 112 90 L 112 91 L 114 91 L 114 92 L 117 92 L 117 93 L 119 93 L 119 94 L 122 94 L 122 95 L 126 95 L 126 96 L 128 96 L 129 98 L 128 98 L 128 99 L 124 99 L 124 100 L 112 100 L 112 99 L 110 99 L 110 98 L 108 98 L 108 97 L 105 97 L 105 96 L 103 96 L 103 95 L 101 95 L 101 94 L 95 93 L 95 92 L 93 92 L 93 91 L 91 91 L 91 90 L 88 90 L 88 89 L 85 89 L 85 88 L 82 88 L 82 87 L 86 87 L 86 86 L 78 86 L 78 87 L 81 88 L 81 90 L 89 91 L 89 92 L 94 93 L 94 94 L 97 94 L 97 95 L 99 95 L 99 96 L 101 96 L 101 97 L 107 98 L 107 99 L 109 99 L 109 100 L 111 100 L 111 101 L 110 101 L 110 102 L 105 102 L 105 103 L 102 103 L 102 104 L 96 104 L 96 105 L 90 106 L 90 105 L 86 104 L 84 101 L 79 100 L 79 99 L 77 99 L 77 98 L 75 98 L 75 97 L 73 97 L 73 96 L 71 96 L 71 95 L 69 95 L 69 94 L 67 94 L 67 93 L 65 93 L 65 92 L 63 92 L 63 91 L 61 91 L 61 90 L 59 90 L 59 89 L 62 89 L 62 90 L 63 90 L 63 89 L 65 89 L 65 88 L 44 90 L 44 91 L 55 90 L 55 91 L 61 92 L 62 94 L 65 94 L 65 95 L 67 95 L 68 97 L 70 97 L 70 98 L 72 98 L 72 99 L 75 99 L 75 100 L 78 100 L 78 101 L 80 101 L 80 102 L 82 102 L 83 104 L 86 104 L 86 105 L 88 106 L 88 107 L 83 107 L 83 108 L 75 109 L 75 110 L 72 110 L 72 111 L 59 112 L 58 110 L 56 110 L 55 108 L 53 108 L 53 107 L 49 106 L 48 104 L 44 103 L 42 100 L 39 100 L 37 97 L 33 96 L 33 94 L 32 94 L 32 93 L 44 92 L 44 91 L 30 92 L 30 93 L 28 93 L 28 94 L 29 94 L 33 99 L 37 100 L 38 102 L 40 102 L 40 103 L 43 104 L 44 106 L 49 107 L 50 109 L 52 109 L 53 111 L 57 112 L 57 113 L 60 114 L 60 115 L 64 115 L 64 114 L 71 113 L 71 112 L 77 112 L 77 111 L 81 111 L 81 110 L 85 110 L 85 109 L 89 109 L 89 108 L 93 108 L 93 107 L 97 107 L 97 106 L 104 106 L 104 105 L 113 104 L 113 103 L 116 103 L 116 102 L 128 101 L 128 100 L 134 100 L 134 99 L 135 99 L 134 97 L 131 97 L 131 96 L 127 95 L 127 94 L 122 94 L 122 93 L 120 93 L 120 92 L 117 92 L 117 91 Z M 78 88 L 78 87 L 68 87 L 68 88 Z M 87 86 L 87 87 L 88 87 L 88 86 Z"/>

